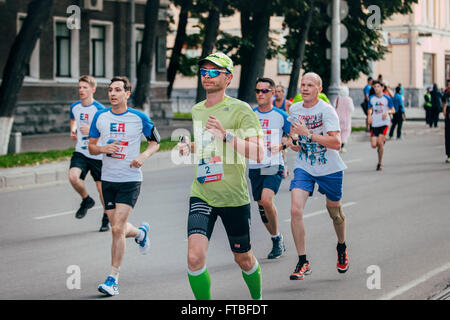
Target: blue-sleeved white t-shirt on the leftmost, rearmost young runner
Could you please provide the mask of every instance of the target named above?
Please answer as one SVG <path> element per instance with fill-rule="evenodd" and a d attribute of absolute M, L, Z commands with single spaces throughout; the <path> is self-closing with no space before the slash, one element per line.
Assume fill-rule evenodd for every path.
<path fill-rule="evenodd" d="M 89 106 L 83 106 L 81 101 L 72 103 L 70 106 L 70 119 L 75 119 L 77 124 L 77 144 L 75 151 L 84 154 L 86 157 L 96 160 L 101 160 L 102 155 L 91 155 L 88 150 L 89 135 L 83 135 L 80 128 L 83 126 L 90 126 L 95 114 L 105 107 L 98 101 L 95 101 Z"/>

